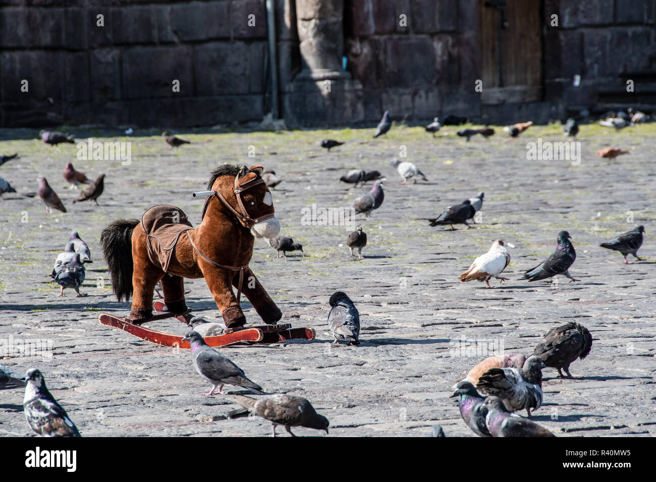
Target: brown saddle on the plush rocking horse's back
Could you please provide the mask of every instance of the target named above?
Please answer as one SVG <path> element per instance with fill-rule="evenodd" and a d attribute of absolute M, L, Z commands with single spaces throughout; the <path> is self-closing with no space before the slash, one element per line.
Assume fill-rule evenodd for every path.
<path fill-rule="evenodd" d="M 167 204 L 154 206 L 144 212 L 141 226 L 148 236 L 148 259 L 161 266 L 164 272 L 169 269 L 171 255 L 180 235 L 194 229 L 182 209 Z"/>

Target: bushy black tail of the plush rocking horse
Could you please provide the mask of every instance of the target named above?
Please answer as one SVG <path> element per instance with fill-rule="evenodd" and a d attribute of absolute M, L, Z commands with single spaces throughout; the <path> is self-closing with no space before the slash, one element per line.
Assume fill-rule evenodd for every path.
<path fill-rule="evenodd" d="M 102 253 L 110 268 L 112 288 L 119 301 L 122 298 L 128 301 L 133 292 L 132 231 L 137 224 L 138 219 L 117 219 L 100 233 Z"/>

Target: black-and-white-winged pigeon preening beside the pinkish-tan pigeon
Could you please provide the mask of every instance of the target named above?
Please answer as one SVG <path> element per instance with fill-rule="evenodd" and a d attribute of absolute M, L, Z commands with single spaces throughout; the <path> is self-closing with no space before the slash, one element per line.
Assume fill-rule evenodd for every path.
<path fill-rule="evenodd" d="M 544 367 L 544 361 L 533 355 L 526 359 L 521 369 L 489 369 L 478 378 L 476 388 L 482 393 L 501 398 L 511 412 L 525 409 L 531 416 L 531 409 L 537 410 L 542 405 Z"/>

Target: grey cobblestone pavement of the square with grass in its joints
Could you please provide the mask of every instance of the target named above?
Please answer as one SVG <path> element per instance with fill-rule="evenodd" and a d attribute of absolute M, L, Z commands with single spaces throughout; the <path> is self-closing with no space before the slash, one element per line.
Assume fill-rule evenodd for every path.
<path fill-rule="evenodd" d="M 436 138 L 420 127 L 396 127 L 379 139 L 372 129 L 343 131 L 188 131 L 193 144 L 167 150 L 159 132 L 131 138 L 110 131 L 73 131 L 79 138 L 131 141 L 132 163 L 79 161 L 67 144 L 55 150 L 28 137 L 32 131 L 0 132 L 0 153 L 18 151 L 0 176 L 20 192 L 36 191 L 45 175 L 67 214 L 45 214 L 39 197 L 3 195 L 0 201 L 0 340 L 50 340 L 52 357 L 14 356 L 0 363 L 17 371 L 38 367 L 49 389 L 85 436 L 268 435 L 259 418 L 226 420 L 230 395 L 206 397 L 209 388 L 194 371 L 190 353 L 138 340 L 98 323 L 103 312 L 127 315 L 109 288 L 98 237 L 118 217 L 139 218 L 166 203 L 200 220 L 210 171 L 230 163 L 262 164 L 284 181 L 274 205 L 284 233 L 304 253 L 276 259 L 256 241 L 251 268 L 296 327 L 315 327 L 312 342 L 232 346 L 222 353 L 268 392 L 302 395 L 331 422 L 330 436 L 427 436 L 441 424 L 447 436 L 473 435 L 451 394 L 454 381 L 494 350 L 532 353 L 550 328 L 577 321 L 592 332 L 590 355 L 575 361 L 580 378 L 556 378 L 544 370 L 544 404 L 535 420 L 562 436 L 656 434 L 654 325 L 656 262 L 653 243 L 656 125 L 614 132 L 582 126 L 580 165 L 568 160 L 527 161 L 527 143 L 564 140 L 558 125 L 534 126 L 508 140 L 500 128 L 489 140 L 465 142 L 443 128 Z M 448 135 L 443 135 L 445 134 Z M 16 137 L 21 140 L 10 140 Z M 346 140 L 331 153 L 321 138 Z M 429 182 L 401 186 L 390 166 L 403 147 Z M 616 161 L 594 155 L 604 146 L 630 150 Z M 253 157 L 249 157 L 249 153 Z M 62 169 L 72 161 L 89 177 L 106 174 L 100 206 L 72 204 Z M 577 164 L 574 161 L 574 164 Z M 387 178 L 385 200 L 371 218 L 358 216 L 368 235 L 363 260 L 350 259 L 344 226 L 304 226 L 302 209 L 349 207 L 369 190 L 338 182 L 348 169 L 378 169 Z M 426 220 L 445 207 L 485 191 L 475 229 L 431 228 Z M 628 224 L 627 221 L 634 224 Z M 598 247 L 617 233 L 644 224 L 647 260 L 622 263 L 621 254 Z M 464 228 L 464 226 L 459 226 Z M 57 298 L 48 277 L 70 231 L 91 247 L 93 264 L 76 298 Z M 521 273 L 554 250 L 567 230 L 577 250 L 570 272 L 578 283 L 527 283 Z M 494 239 L 514 245 L 510 277 L 495 289 L 460 283 L 458 275 Z M 202 279 L 188 281 L 188 304 L 207 319 L 220 314 Z M 346 291 L 361 313 L 362 344 L 333 346 L 327 332 L 328 298 Z M 243 299 L 249 323 L 258 323 Z M 155 329 L 182 333 L 174 321 Z M 464 340 L 464 350 L 462 342 Z M 478 344 L 478 345 L 477 345 Z M 478 347 L 478 348 L 477 348 Z M 226 387 L 228 388 L 228 387 Z M 0 392 L 0 434 L 30 435 L 22 414 L 22 391 Z M 300 428 L 298 435 L 318 435 Z M 286 434 L 285 434 L 286 435 Z"/>

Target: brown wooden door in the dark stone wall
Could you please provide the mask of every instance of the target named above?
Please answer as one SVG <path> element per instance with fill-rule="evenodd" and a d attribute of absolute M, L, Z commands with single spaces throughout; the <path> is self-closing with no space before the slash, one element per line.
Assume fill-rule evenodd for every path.
<path fill-rule="evenodd" d="M 542 7 L 542 0 L 479 0 L 483 104 L 542 100 Z"/>

